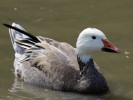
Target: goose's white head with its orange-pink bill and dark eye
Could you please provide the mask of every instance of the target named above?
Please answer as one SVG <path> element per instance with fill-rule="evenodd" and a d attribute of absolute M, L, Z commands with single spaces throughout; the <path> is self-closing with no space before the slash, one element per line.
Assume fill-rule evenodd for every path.
<path fill-rule="evenodd" d="M 77 39 L 77 53 L 79 57 L 87 62 L 96 52 L 119 52 L 106 38 L 104 33 L 96 28 L 84 29 Z"/>

